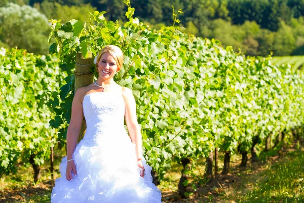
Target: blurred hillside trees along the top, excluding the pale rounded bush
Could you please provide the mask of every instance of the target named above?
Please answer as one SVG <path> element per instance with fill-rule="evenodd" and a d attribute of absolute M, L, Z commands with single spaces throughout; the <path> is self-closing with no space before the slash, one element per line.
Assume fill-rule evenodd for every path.
<path fill-rule="evenodd" d="M 88 22 L 86 14 L 98 10 L 107 11 L 104 15 L 107 20 L 118 20 L 122 25 L 127 21 L 125 13 L 128 12 L 128 17 L 136 16 L 156 29 L 175 23 L 172 18 L 173 5 L 174 8 L 183 10 L 184 13 L 177 20 L 180 27 L 187 28 L 187 33 L 219 39 L 224 47 L 233 46 L 235 51 L 241 48 L 250 56 L 267 56 L 271 51 L 273 55 L 304 54 L 303 0 L 132 0 L 132 11 L 128 11 L 121 0 L 5 0 L 0 3 L 0 7 L 8 2 L 29 4 L 48 19 L 61 19 L 63 23 L 70 19 Z M 223 22 L 219 23 L 220 20 Z M 220 24 L 223 25 L 223 30 L 218 27 Z M 258 32 L 250 32 L 251 25 L 254 29 L 258 26 Z M 270 37 L 279 40 L 272 40 Z M 31 42 L 32 39 L 27 36 L 22 42 Z M 9 44 L 5 39 L 0 40 Z M 43 42 L 45 40 L 39 43 L 47 50 L 47 43 Z M 28 44 L 37 43 L 35 41 Z M 9 46 L 16 45 L 19 45 L 19 41 L 18 44 Z"/>

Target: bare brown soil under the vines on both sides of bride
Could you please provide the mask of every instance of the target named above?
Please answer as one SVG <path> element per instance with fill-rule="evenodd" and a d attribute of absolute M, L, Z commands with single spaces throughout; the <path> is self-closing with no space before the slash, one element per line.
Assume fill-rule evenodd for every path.
<path fill-rule="evenodd" d="M 270 156 L 267 161 L 251 163 L 251 157 L 248 156 L 248 162 L 246 167 L 239 167 L 241 161 L 231 162 L 231 171 L 227 175 L 221 175 L 220 173 L 213 176 L 205 185 L 197 185 L 197 190 L 194 191 L 191 187 L 187 189 L 192 191 L 193 194 L 185 199 L 178 196 L 178 191 L 172 191 L 170 189 L 163 190 L 163 202 L 164 203 L 182 203 L 182 202 L 224 202 L 225 194 L 229 191 L 234 192 L 234 188 L 241 188 L 244 186 L 242 177 L 249 177 L 251 181 L 257 180 L 259 177 L 255 176 L 257 173 L 267 170 L 267 165 L 278 162 L 289 151 L 293 151 L 294 148 L 283 149 L 275 156 Z M 250 191 L 252 188 L 246 186 L 246 190 Z M 52 181 L 41 182 L 36 185 L 29 184 L 24 188 L 14 188 L 11 190 L 5 190 L 0 192 L 0 202 L 26 202 L 30 196 L 43 196 L 51 195 L 51 189 L 53 188 Z M 227 202 L 227 201 L 225 201 Z M 235 202 L 235 201 L 229 201 Z"/>

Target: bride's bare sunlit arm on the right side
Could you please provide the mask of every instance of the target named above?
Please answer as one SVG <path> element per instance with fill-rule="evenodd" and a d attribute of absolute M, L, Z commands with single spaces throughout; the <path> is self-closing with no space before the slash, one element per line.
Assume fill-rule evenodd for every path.
<path fill-rule="evenodd" d="M 141 177 L 143 177 L 144 168 L 142 165 L 142 136 L 137 122 L 136 103 L 132 90 L 130 90 L 129 88 L 123 87 L 123 95 L 124 95 L 125 107 L 126 107 L 125 120 L 131 141 L 136 145 L 137 162 L 138 162 L 138 166 L 141 167 L 143 170 L 141 174 Z"/>

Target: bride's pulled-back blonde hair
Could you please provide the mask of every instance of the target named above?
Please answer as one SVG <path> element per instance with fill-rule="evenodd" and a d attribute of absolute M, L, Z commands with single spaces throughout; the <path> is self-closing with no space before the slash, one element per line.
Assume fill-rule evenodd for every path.
<path fill-rule="evenodd" d="M 117 64 L 117 72 L 119 72 L 122 69 L 123 62 L 124 62 L 124 54 L 122 50 L 115 45 L 106 45 L 104 46 L 97 55 L 97 61 L 96 61 L 96 69 L 98 69 L 98 62 L 104 53 L 109 53 L 113 56 L 113 58 L 116 61 Z"/>

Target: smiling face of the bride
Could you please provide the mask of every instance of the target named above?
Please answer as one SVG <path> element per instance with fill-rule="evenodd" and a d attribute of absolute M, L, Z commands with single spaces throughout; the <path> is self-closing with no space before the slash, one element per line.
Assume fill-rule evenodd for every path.
<path fill-rule="evenodd" d="M 102 54 L 98 62 L 99 76 L 104 79 L 113 78 L 117 69 L 118 66 L 114 57 L 108 52 Z"/>

